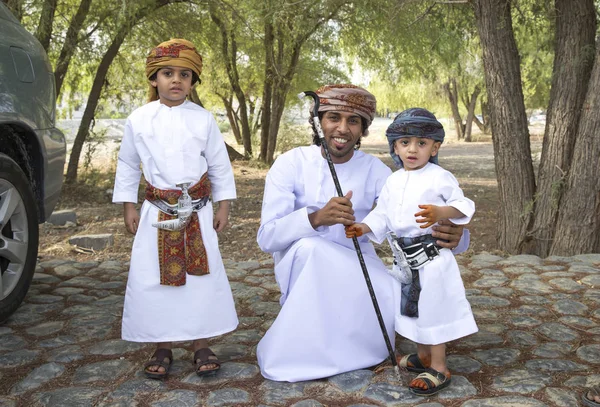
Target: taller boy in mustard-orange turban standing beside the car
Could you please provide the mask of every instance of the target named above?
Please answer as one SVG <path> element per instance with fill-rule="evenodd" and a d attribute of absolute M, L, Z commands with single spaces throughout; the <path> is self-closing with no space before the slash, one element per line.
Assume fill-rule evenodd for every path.
<path fill-rule="evenodd" d="M 189 41 L 173 39 L 150 52 L 150 102 L 127 119 L 118 157 L 113 202 L 123 203 L 125 226 L 135 234 L 122 338 L 157 343 L 144 366 L 150 378 L 167 376 L 174 341 L 193 341 L 198 375 L 216 372 L 220 362 L 207 338 L 238 325 L 217 240 L 236 198 L 233 171 L 214 117 L 186 100 L 201 71 Z M 146 199 L 138 215 L 142 171 Z M 189 220 L 178 230 L 154 227 L 177 219 L 182 183 L 189 183 Z M 218 203 L 214 216 L 209 195 Z"/>

